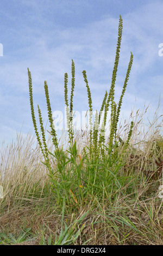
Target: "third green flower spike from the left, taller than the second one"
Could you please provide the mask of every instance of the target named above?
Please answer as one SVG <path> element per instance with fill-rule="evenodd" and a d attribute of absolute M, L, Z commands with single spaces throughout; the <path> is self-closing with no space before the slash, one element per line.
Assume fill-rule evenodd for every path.
<path fill-rule="evenodd" d="M 47 103 L 47 109 L 48 109 L 48 118 L 49 118 L 50 127 L 52 129 L 51 130 L 51 134 L 53 136 L 52 141 L 55 148 L 58 148 L 57 134 L 55 132 L 55 129 L 53 128 L 52 109 L 51 109 L 51 103 L 49 100 L 47 81 L 45 81 L 44 89 L 45 89 L 46 103 Z"/>

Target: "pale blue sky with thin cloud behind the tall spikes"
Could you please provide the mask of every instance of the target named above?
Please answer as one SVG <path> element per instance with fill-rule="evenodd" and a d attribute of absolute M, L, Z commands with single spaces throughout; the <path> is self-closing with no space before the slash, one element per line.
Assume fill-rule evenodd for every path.
<path fill-rule="evenodd" d="M 47 121 L 44 81 L 47 81 L 52 111 L 64 110 L 64 74 L 71 85 L 71 60 L 76 67 L 74 110 L 88 109 L 82 71 L 86 70 L 93 110 L 99 110 L 105 90 L 110 89 L 114 67 L 118 20 L 123 33 L 115 100 L 121 96 L 133 52 L 134 62 L 121 112 L 148 106 L 156 110 L 161 100 L 163 56 L 162 1 L 139 0 L 10 0 L 0 2 L 0 147 L 35 135 L 29 105 L 27 68 L 32 73 L 34 108 L 37 104 Z M 163 53 L 163 51 L 162 51 Z M 136 103 L 135 103 L 136 99 Z M 23 125 L 23 126 L 22 126 Z M 40 128 L 39 128 L 40 130 Z"/>

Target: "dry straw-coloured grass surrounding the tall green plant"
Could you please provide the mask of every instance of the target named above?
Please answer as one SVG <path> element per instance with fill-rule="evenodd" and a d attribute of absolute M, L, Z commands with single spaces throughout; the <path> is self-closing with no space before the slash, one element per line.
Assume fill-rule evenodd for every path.
<path fill-rule="evenodd" d="M 84 228 L 73 245 L 163 245 L 163 199 L 158 197 L 162 184 L 161 122 L 155 115 L 149 123 L 148 133 L 141 133 L 142 138 L 138 138 L 139 126 L 143 123 L 139 121 L 143 120 L 145 112 L 147 110 L 142 114 L 137 112 L 135 116 L 126 164 L 120 171 L 124 180 L 122 188 L 112 187 L 109 193 L 106 189 L 107 197 L 102 199 L 92 197 L 83 205 L 65 206 L 67 225 L 89 210 L 82 222 Z M 123 140 L 127 138 L 128 130 L 125 129 L 126 123 L 120 123 L 118 134 L 123 133 Z M 80 153 L 87 136 L 86 132 L 76 133 Z M 63 134 L 61 145 L 65 144 L 65 137 Z M 26 237 L 21 242 L 17 240 L 17 245 L 39 245 L 42 237 L 45 240 L 41 244 L 48 243 L 49 237 L 54 243 L 63 227 L 62 205 L 55 204 L 46 166 L 41 163 L 41 150 L 39 146 L 32 150 L 33 140 L 30 135 L 26 140 L 17 136 L 17 144 L 1 152 L 0 184 L 4 188 L 4 198 L 0 199 L 0 233 L 18 237 L 21 230 L 30 228 L 30 241 Z M 53 146 L 48 149 L 52 152 Z M 80 229 L 78 225 L 77 230 Z M 9 240 L 3 242 L 15 244 Z"/>

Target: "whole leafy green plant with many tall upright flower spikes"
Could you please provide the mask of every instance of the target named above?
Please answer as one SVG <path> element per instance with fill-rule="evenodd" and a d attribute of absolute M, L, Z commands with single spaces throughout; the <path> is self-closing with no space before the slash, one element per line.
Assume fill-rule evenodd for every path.
<path fill-rule="evenodd" d="M 95 122 L 92 123 L 92 98 L 91 90 L 87 81 L 86 71 L 83 70 L 83 77 L 87 88 L 87 97 L 89 103 L 89 122 L 90 122 L 90 136 L 89 145 L 83 148 L 83 157 L 78 154 L 76 141 L 74 141 L 73 134 L 73 92 L 74 92 L 74 81 L 75 81 L 75 67 L 72 60 L 72 81 L 71 81 L 71 97 L 70 105 L 68 104 L 68 75 L 65 73 L 65 104 L 67 112 L 67 127 L 69 136 L 69 148 L 64 151 L 59 148 L 57 134 L 55 132 L 55 127 L 53 125 L 51 104 L 49 101 L 48 86 L 45 81 L 45 94 L 48 110 L 48 118 L 51 127 L 52 141 L 55 146 L 54 153 L 51 153 L 47 149 L 45 131 L 43 128 L 41 110 L 39 105 L 37 105 L 39 112 L 40 127 L 42 133 L 43 146 L 41 144 L 41 139 L 39 133 L 37 132 L 34 106 L 33 106 L 33 92 L 32 92 L 32 78 L 28 69 L 29 77 L 29 96 L 30 96 L 30 108 L 32 111 L 32 120 L 35 128 L 35 133 L 37 140 L 39 142 L 41 151 L 45 158 L 45 164 L 49 170 L 49 180 L 51 181 L 51 187 L 53 192 L 57 195 L 57 203 L 60 204 L 65 198 L 67 204 L 72 202 L 76 205 L 80 202 L 83 203 L 88 195 L 91 197 L 95 194 L 103 195 L 104 188 L 109 189 L 111 182 L 115 182 L 116 187 L 121 187 L 121 183 L 118 181 L 118 170 L 121 169 L 123 162 L 123 155 L 126 152 L 129 140 L 131 138 L 131 133 L 133 130 L 134 123 L 131 122 L 128 139 L 123 147 L 123 152 L 121 156 L 118 156 L 118 142 L 117 142 L 117 123 L 120 116 L 120 110 L 122 105 L 122 98 L 126 91 L 127 82 L 129 79 L 129 74 L 131 66 L 133 64 L 133 54 L 130 55 L 130 61 L 128 65 L 128 70 L 126 74 L 126 79 L 124 80 L 122 94 L 118 103 L 114 101 L 115 94 L 115 82 L 117 76 L 118 62 L 120 59 L 120 47 L 122 38 L 122 27 L 123 21 L 120 15 L 119 26 L 118 26 L 118 41 L 116 47 L 116 57 L 114 63 L 114 69 L 112 72 L 111 87 L 110 91 L 105 92 L 105 96 L 102 102 L 101 111 L 104 110 L 104 118 L 101 120 L 101 113 L 96 112 Z M 70 108 L 69 108 L 70 107 Z M 106 127 L 106 117 L 108 114 L 109 107 L 111 107 L 111 127 L 109 142 L 105 142 L 105 127 Z M 99 129 L 99 124 L 102 121 L 102 128 Z M 53 160 L 55 168 L 52 169 L 49 154 L 55 159 Z"/>

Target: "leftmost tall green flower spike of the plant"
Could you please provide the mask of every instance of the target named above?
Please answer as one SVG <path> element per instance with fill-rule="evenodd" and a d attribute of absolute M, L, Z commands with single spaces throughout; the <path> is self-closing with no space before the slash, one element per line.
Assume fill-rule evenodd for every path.
<path fill-rule="evenodd" d="M 31 109 L 31 113 L 32 113 L 32 121 L 33 121 L 33 124 L 34 124 L 34 129 L 35 129 L 35 134 L 36 134 L 36 137 L 37 137 L 37 141 L 39 142 L 41 151 L 43 153 L 43 148 L 42 148 L 42 144 L 41 144 L 39 133 L 37 131 L 37 124 L 36 124 L 36 118 L 35 118 L 35 113 L 34 113 L 33 91 L 32 91 L 32 77 L 31 77 L 31 73 L 29 71 L 29 68 L 28 68 L 28 84 L 29 84 L 29 99 L 30 99 L 30 109 Z M 43 153 L 43 156 L 45 156 L 44 153 Z"/>

